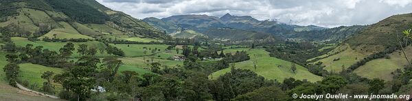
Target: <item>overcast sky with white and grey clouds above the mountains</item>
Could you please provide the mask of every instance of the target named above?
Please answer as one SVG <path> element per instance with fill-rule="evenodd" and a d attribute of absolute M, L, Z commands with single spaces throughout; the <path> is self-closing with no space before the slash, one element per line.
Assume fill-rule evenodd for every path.
<path fill-rule="evenodd" d="M 412 13 L 412 0 L 97 0 L 139 19 L 183 14 L 252 16 L 295 25 L 369 25 Z"/>

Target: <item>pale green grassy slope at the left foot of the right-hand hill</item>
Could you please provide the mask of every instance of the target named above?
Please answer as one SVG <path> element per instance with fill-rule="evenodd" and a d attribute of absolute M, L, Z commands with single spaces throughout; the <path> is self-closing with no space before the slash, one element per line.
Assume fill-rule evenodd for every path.
<path fill-rule="evenodd" d="M 322 62 L 322 65 L 326 66 L 323 69 L 328 70 L 328 72 L 341 72 L 342 67 L 346 69 L 367 56 L 352 50 L 352 48 L 350 48 L 347 44 L 339 46 L 337 49 L 339 51 L 334 50 L 332 53 L 328 53 L 330 55 L 319 56 L 325 58 L 314 63 Z"/>

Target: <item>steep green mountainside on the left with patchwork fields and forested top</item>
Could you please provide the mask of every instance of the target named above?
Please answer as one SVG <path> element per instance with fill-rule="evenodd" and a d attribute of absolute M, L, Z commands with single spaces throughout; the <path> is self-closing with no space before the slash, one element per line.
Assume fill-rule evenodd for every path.
<path fill-rule="evenodd" d="M 165 38 L 165 34 L 123 12 L 106 8 L 95 0 L 0 1 L 0 27 L 16 36 L 34 38 L 116 37 Z"/>

